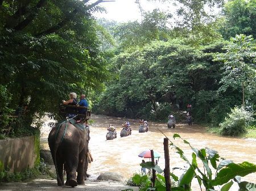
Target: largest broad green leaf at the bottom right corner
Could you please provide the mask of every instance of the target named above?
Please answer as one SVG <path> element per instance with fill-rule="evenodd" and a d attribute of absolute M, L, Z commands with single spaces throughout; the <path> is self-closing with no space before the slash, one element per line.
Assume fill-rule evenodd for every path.
<path fill-rule="evenodd" d="M 253 163 L 230 163 L 226 165 L 226 168 L 222 168 L 220 172 L 217 173 L 215 179 L 212 181 L 212 185 L 222 185 L 236 176 L 246 176 L 253 172 L 256 172 L 256 165 Z"/>

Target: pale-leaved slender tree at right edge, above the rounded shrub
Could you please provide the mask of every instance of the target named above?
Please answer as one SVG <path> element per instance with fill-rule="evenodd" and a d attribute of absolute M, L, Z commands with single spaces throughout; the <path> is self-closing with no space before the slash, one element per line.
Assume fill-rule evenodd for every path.
<path fill-rule="evenodd" d="M 256 54 L 255 44 L 251 36 L 236 35 L 231 43 L 224 46 L 226 53 L 216 55 L 216 61 L 224 62 L 224 72 L 221 79 L 221 90 L 227 88 L 242 88 L 242 105 L 245 107 L 245 92 L 255 95 L 256 87 Z"/>

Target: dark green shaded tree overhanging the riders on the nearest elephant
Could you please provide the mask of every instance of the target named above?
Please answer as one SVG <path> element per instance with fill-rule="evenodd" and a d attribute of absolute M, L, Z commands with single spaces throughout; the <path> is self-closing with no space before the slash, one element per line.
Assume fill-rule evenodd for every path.
<path fill-rule="evenodd" d="M 57 114 L 69 92 L 88 94 L 107 78 L 92 11 L 98 1 L 0 1 L 0 82 L 9 108 L 29 103 L 35 114 Z M 1 112 L 2 112 L 2 108 Z"/>

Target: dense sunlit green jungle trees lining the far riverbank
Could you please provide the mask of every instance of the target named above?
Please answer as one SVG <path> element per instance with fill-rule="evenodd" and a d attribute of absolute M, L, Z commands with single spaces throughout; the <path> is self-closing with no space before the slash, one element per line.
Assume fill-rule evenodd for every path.
<path fill-rule="evenodd" d="M 186 21 L 159 10 L 142 10 L 141 23 L 99 21 L 115 46 L 94 112 L 166 121 L 192 104 L 193 120 L 213 125 L 236 106 L 255 113 L 255 1 L 215 1 L 214 18 L 202 6 L 214 1 L 185 2 L 176 16 Z"/>

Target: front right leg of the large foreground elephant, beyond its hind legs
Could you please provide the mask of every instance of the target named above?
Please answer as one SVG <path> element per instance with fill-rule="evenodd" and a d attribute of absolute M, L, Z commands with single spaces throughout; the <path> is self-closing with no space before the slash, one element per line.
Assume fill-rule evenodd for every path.
<path fill-rule="evenodd" d="M 79 154 L 79 164 L 77 167 L 77 184 L 84 185 L 84 175 L 86 177 L 85 162 L 87 161 L 87 147 L 84 148 Z"/>

